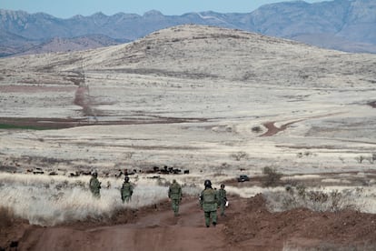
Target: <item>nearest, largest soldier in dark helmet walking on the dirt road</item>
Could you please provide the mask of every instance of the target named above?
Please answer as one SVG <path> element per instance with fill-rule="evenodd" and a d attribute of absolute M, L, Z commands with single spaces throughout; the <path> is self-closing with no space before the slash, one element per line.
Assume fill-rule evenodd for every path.
<path fill-rule="evenodd" d="M 212 188 L 212 182 L 207 179 L 203 183 L 205 189 L 200 195 L 200 206 L 203 209 L 203 215 L 205 216 L 206 227 L 210 226 L 210 220 L 212 219 L 213 226 L 217 225 L 217 192 Z"/>

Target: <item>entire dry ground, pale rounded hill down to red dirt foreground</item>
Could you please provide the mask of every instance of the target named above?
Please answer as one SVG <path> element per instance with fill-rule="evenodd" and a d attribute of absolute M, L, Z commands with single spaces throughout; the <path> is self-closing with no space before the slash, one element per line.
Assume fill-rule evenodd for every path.
<path fill-rule="evenodd" d="M 0 74 L 0 249 L 376 245 L 376 55 L 180 25 L 124 45 L 3 58 Z M 124 169 L 136 187 L 129 205 Z M 99 201 L 88 196 L 92 170 Z M 268 185 L 265 170 L 278 176 Z M 178 218 L 166 201 L 173 178 Z M 232 203 L 210 229 L 197 204 L 207 178 Z"/>

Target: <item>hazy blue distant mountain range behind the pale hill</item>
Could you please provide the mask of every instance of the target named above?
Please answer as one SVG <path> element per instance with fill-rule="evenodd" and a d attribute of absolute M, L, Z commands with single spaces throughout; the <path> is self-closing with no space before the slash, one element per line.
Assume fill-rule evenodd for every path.
<path fill-rule="evenodd" d="M 252 13 L 244 14 L 208 11 L 163 15 L 152 10 L 143 15 L 96 13 L 89 16 L 74 15 L 68 19 L 44 13 L 0 10 L 0 20 L 0 55 L 3 56 L 116 45 L 156 30 L 183 24 L 241 29 L 324 48 L 376 53 L 374 0 L 334 0 L 315 4 L 304 1 L 283 2 L 262 5 Z M 103 42 L 98 40 L 97 35 L 102 35 Z M 86 42 L 77 45 L 74 42 L 77 37 Z M 64 46 L 56 43 L 48 45 L 51 41 L 55 42 L 54 38 L 64 39 Z"/>

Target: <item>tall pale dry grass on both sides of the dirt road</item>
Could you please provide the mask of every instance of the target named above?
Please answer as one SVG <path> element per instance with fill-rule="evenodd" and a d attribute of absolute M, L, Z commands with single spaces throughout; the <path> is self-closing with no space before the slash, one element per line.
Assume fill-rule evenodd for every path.
<path fill-rule="evenodd" d="M 190 175 L 191 176 L 191 175 Z M 20 217 L 30 224 L 55 226 L 77 220 L 104 219 L 124 208 L 151 206 L 167 199 L 168 186 L 176 178 L 183 186 L 183 196 L 198 196 L 202 180 L 191 176 L 131 176 L 134 184 L 132 200 L 123 204 L 120 196 L 122 178 L 100 177 L 101 197 L 95 199 L 89 191 L 90 176 L 47 176 L 0 173 L 0 219 Z M 270 211 L 307 207 L 314 211 L 339 211 L 346 208 L 376 213 L 376 192 L 373 186 L 364 187 L 300 187 L 286 190 L 274 187 L 226 186 L 229 195 L 252 197 L 262 194 Z M 231 201 L 230 201 L 231 203 Z M 9 215 L 10 214 L 10 215 Z M 11 217 L 8 217 L 11 216 Z"/>

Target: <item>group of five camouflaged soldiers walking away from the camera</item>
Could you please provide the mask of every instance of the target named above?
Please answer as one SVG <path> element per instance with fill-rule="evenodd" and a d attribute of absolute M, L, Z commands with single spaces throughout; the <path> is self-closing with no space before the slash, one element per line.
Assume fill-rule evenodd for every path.
<path fill-rule="evenodd" d="M 93 196 L 100 198 L 101 182 L 99 182 L 96 172 L 93 173 L 89 186 Z M 205 226 L 209 227 L 211 223 L 213 226 L 216 226 L 218 208 L 221 210 L 221 216 L 225 216 L 224 210 L 227 203 L 226 190 L 224 189 L 224 184 L 221 185 L 221 189 L 219 190 L 213 189 L 212 182 L 209 179 L 204 181 L 203 186 L 204 189 L 200 194 L 200 206 L 205 217 Z M 123 203 L 128 203 L 133 193 L 134 186 L 129 182 L 129 176 L 125 176 L 123 186 L 120 189 Z M 173 215 L 179 216 L 179 206 L 182 201 L 183 193 L 182 186 L 180 186 L 175 179 L 173 179 L 173 183 L 169 186 L 168 197 L 173 207 Z"/>

